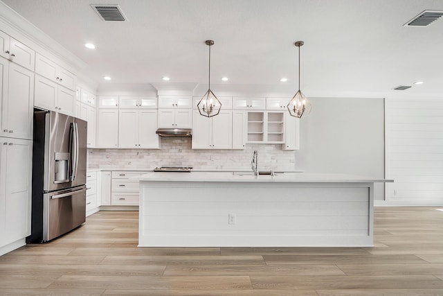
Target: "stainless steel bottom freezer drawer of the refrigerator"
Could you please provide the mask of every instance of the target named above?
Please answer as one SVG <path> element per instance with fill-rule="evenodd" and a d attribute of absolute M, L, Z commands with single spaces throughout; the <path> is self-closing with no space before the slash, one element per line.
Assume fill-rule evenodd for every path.
<path fill-rule="evenodd" d="M 82 225 L 86 220 L 86 186 L 44 194 L 43 241 Z"/>

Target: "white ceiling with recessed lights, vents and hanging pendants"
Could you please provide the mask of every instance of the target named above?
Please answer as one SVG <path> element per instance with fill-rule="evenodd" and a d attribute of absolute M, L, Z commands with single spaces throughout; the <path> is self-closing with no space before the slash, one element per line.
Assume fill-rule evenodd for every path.
<path fill-rule="evenodd" d="M 206 85 L 210 39 L 213 89 L 295 93 L 294 42 L 302 40 L 300 88 L 307 96 L 443 94 L 443 17 L 424 28 L 403 26 L 423 10 L 443 10 L 443 0 L 3 2 L 83 60 L 97 83 L 165 83 L 169 76 L 170 83 Z M 91 3 L 118 4 L 127 21 L 102 21 Z M 424 84 L 413 85 L 417 80 Z M 413 87 L 392 90 L 399 85 Z"/>

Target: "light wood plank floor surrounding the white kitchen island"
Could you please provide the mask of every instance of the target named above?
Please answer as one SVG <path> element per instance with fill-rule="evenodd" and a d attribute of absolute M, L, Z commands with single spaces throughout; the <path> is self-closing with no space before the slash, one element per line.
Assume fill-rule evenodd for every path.
<path fill-rule="evenodd" d="M 136 247 L 137 212 L 100 211 L 0 256 L 0 295 L 443 295 L 443 211 L 377 208 L 375 247 Z"/>

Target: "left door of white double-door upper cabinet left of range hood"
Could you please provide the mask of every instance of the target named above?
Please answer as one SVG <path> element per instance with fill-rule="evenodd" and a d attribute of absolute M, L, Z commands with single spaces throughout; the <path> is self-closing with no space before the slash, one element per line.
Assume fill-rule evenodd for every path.
<path fill-rule="evenodd" d="M 138 148 L 138 110 L 120 110 L 118 148 Z"/>

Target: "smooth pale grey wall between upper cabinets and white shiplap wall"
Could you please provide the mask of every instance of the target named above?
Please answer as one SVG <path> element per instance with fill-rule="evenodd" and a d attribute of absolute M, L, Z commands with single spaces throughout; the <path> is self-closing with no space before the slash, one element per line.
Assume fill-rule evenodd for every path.
<path fill-rule="evenodd" d="M 383 98 L 311 98 L 300 120 L 296 167 L 309 173 L 384 177 Z M 375 184 L 374 199 L 384 199 Z"/>

